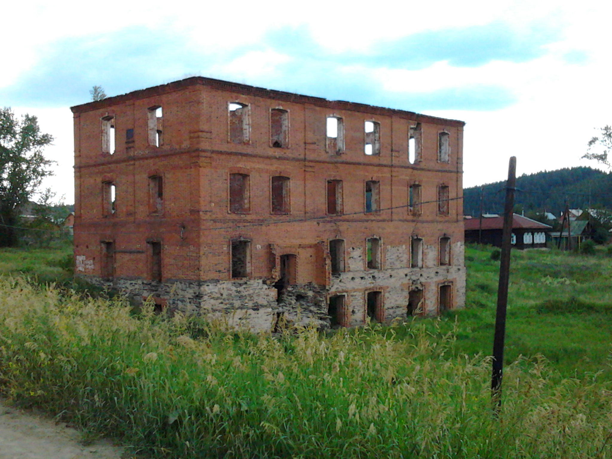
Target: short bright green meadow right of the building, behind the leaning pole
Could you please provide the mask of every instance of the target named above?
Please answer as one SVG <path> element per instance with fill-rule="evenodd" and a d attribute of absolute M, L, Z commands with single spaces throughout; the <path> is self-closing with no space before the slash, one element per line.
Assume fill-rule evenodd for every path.
<path fill-rule="evenodd" d="M 458 321 L 457 353 L 488 355 L 493 331 L 499 261 L 491 248 L 468 247 L 467 308 Z M 612 258 L 527 250 L 512 252 L 506 362 L 542 354 L 565 377 L 603 370 L 612 379 Z"/>

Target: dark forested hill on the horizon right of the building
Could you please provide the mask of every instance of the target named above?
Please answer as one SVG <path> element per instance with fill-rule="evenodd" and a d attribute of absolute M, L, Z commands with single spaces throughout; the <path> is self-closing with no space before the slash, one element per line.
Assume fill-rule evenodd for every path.
<path fill-rule="evenodd" d="M 500 214 L 504 211 L 506 182 L 483 185 L 485 214 Z M 565 199 L 570 209 L 585 209 L 589 206 L 589 188 L 592 207 L 612 209 L 612 173 L 590 167 L 573 167 L 557 171 L 544 171 L 517 177 L 517 193 L 514 203 L 524 211 L 548 211 L 557 217 L 565 209 Z M 480 211 L 480 187 L 463 190 L 463 213 L 476 216 Z"/>

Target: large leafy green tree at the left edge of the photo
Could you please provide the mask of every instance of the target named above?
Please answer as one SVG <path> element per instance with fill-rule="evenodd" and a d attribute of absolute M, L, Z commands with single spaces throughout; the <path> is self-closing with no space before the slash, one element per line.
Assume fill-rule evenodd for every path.
<path fill-rule="evenodd" d="M 17 209 L 28 202 L 53 163 L 42 154 L 53 136 L 40 132 L 35 116 L 15 116 L 10 107 L 0 110 L 0 247 L 17 244 Z"/>

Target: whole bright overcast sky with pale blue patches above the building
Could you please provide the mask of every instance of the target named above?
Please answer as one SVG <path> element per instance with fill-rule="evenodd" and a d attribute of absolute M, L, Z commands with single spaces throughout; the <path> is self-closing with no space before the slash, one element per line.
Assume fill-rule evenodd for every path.
<path fill-rule="evenodd" d="M 610 17 L 598 1 L 10 2 L 0 105 L 39 117 L 73 197 L 72 113 L 202 75 L 466 121 L 464 184 L 575 165 L 612 124 Z"/>

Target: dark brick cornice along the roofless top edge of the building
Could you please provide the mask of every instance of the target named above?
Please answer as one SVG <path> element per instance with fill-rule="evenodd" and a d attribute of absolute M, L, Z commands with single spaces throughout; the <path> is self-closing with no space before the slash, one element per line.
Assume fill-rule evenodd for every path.
<path fill-rule="evenodd" d="M 323 97 L 314 97 L 312 95 L 294 94 L 293 92 L 276 91 L 274 89 L 258 88 L 257 86 L 249 86 L 248 84 L 232 83 L 231 81 L 216 80 L 215 78 L 206 78 L 204 76 L 192 76 L 184 80 L 173 81 L 172 83 L 160 84 L 151 88 L 139 89 L 138 91 L 128 92 L 127 94 L 115 95 L 107 97 L 103 100 L 83 103 L 72 106 L 70 109 L 73 113 L 84 113 L 86 111 L 97 110 L 106 106 L 116 105 L 117 103 L 127 102 L 128 100 L 141 99 L 154 95 L 162 95 L 167 92 L 177 91 L 190 86 L 207 86 L 209 88 L 219 89 L 221 91 L 239 92 L 244 95 L 255 95 L 258 97 L 266 97 L 268 99 L 286 100 L 296 103 L 310 103 L 316 106 L 325 106 L 335 108 L 337 110 L 354 110 L 371 114 L 394 114 L 401 118 L 413 119 L 415 121 L 430 122 L 433 124 L 443 124 L 449 126 L 463 126 L 465 122 L 454 119 L 438 118 L 415 113 L 413 111 L 397 110 L 395 108 L 384 108 L 375 105 L 367 105 L 365 103 L 346 102 L 345 100 L 327 100 Z"/>

